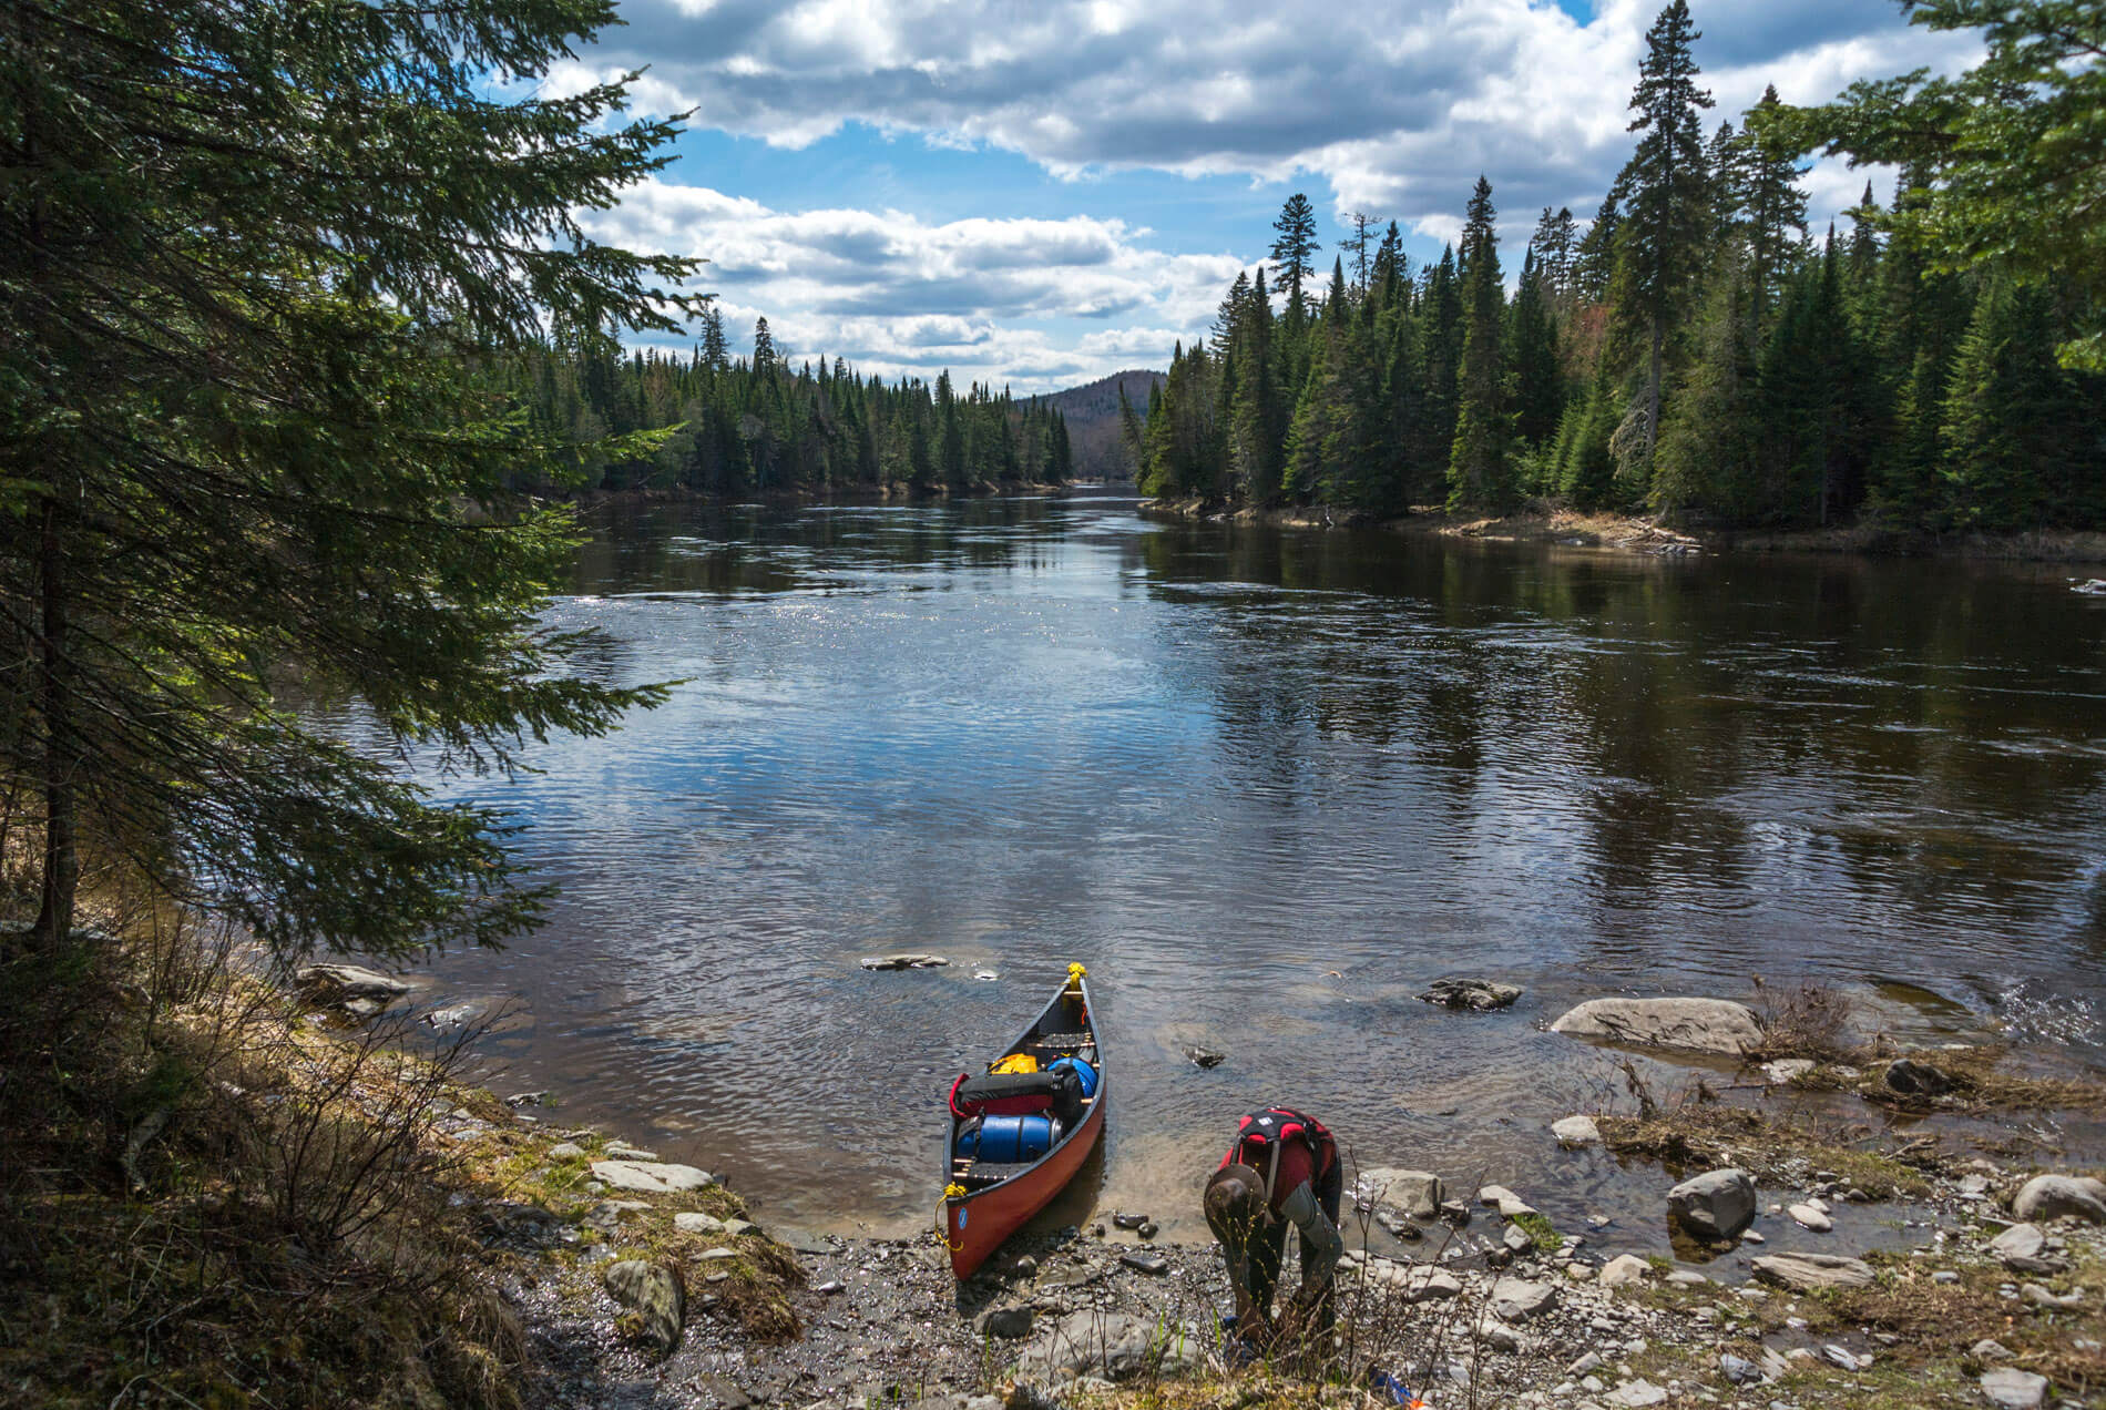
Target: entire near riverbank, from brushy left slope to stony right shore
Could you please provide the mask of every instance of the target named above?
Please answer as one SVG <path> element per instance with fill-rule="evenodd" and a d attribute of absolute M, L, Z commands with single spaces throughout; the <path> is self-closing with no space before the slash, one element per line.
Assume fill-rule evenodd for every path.
<path fill-rule="evenodd" d="M 960 1286 L 933 1235 L 777 1225 L 767 1191 L 756 1216 L 545 1094 L 459 1081 L 474 1029 L 390 1020 L 388 976 L 299 978 L 145 948 L 76 995 L 103 1016 L 74 1012 L 42 1119 L 8 1094 L 6 1404 L 1371 1410 L 1390 1404 L 1358 1389 L 1375 1372 L 1443 1410 L 2106 1391 L 2106 1187 L 2053 1170 L 2055 1132 L 2106 1111 L 2106 1085 L 1994 1047 L 1864 1043 L 1813 991 L 1759 1018 L 1731 1077 L 1712 1060 L 1666 1094 L 1632 1075 L 1539 1134 L 1653 1187 L 1676 1260 L 1611 1256 L 1630 1231 L 1607 1216 L 1554 1227 L 1529 1203 L 1550 1191 L 1354 1168 L 1342 1338 L 1314 1374 L 1224 1364 L 1205 1243 L 1097 1210 Z M 1643 1005 L 1613 1003 L 1655 1050 Z M 1697 1020 L 1752 1022 L 1668 1016 L 1685 1043 Z M 1849 1102 L 1908 1121 L 1839 1119 Z"/>

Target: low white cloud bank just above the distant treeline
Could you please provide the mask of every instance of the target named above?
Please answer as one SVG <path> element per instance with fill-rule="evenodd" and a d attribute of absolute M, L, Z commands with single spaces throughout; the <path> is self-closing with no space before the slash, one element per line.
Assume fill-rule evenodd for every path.
<path fill-rule="evenodd" d="M 885 377 L 948 367 L 1017 392 L 1160 365 L 1207 327 L 1240 268 L 1150 249 L 1146 230 L 1116 219 L 792 213 L 663 179 L 581 219 L 600 240 L 708 257 L 706 282 L 741 341 L 764 316 L 792 358 L 842 356 Z"/>

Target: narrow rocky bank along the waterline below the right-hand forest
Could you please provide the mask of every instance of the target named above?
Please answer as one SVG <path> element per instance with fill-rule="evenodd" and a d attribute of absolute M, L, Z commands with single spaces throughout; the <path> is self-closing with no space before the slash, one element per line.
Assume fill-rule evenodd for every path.
<path fill-rule="evenodd" d="M 1487 544 L 1554 544 L 1620 552 L 1790 552 L 1868 554 L 1895 559 L 1980 559 L 2007 563 L 2106 563 L 2106 533 L 2043 529 L 2039 533 L 1904 533 L 1876 523 L 1834 529 L 1678 529 L 1655 518 L 1533 506 L 1514 514 L 1449 514 L 1426 508 L 1405 518 L 1348 521 L 1327 510 L 1226 510 L 1205 500 L 1144 500 L 1144 516 L 1188 523 L 1272 525 L 1283 529 L 1373 529 L 1403 537 L 1478 540 Z"/>

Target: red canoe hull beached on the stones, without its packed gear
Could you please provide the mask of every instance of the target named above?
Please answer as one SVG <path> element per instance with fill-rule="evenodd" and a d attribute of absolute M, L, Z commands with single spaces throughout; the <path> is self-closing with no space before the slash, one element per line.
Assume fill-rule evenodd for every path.
<path fill-rule="evenodd" d="M 1068 965 L 1068 982 L 1053 1003 L 1011 1043 L 1002 1058 L 1030 1054 L 1042 1064 L 1057 1058 L 1080 1058 L 1097 1071 L 1095 1094 L 1082 1098 L 1082 1119 L 1061 1132 L 1042 1157 L 1028 1166 L 990 1166 L 984 1159 L 956 1155 L 962 1121 L 950 1113 L 943 1123 L 943 1241 L 950 1246 L 950 1267 L 960 1279 L 988 1260 L 1002 1239 L 1013 1235 L 1032 1214 L 1047 1208 L 1053 1195 L 1068 1187 L 1104 1134 L 1104 1075 L 1097 1031 L 1089 1018 L 1089 982 L 1082 965 Z M 996 1058 L 998 1062 L 1000 1058 Z M 992 1066 L 992 1064 L 990 1064 Z"/>

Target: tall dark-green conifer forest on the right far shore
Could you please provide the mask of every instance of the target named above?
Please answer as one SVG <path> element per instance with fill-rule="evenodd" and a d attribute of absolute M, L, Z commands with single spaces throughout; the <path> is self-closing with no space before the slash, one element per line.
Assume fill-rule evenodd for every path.
<path fill-rule="evenodd" d="M 2013 179 L 2053 219 L 2051 173 L 2022 177 L 1965 131 L 1999 116 L 1984 95 L 2015 107 L 2007 141 L 2053 124 L 2077 40 L 2009 27 L 1963 80 L 1860 84 L 1828 110 L 1771 89 L 1706 135 L 1702 36 L 1674 0 L 1647 36 L 1630 162 L 1592 221 L 1544 209 L 1512 295 L 1485 177 L 1436 263 L 1409 268 L 1394 221 L 1363 223 L 1320 295 L 1316 217 L 1293 196 L 1270 263 L 1175 350 L 1146 428 L 1129 419 L 1141 491 L 1356 521 L 1548 500 L 1697 527 L 2106 525 L 2089 247 L 2013 253 Z M 1809 232 L 1796 156 L 1817 145 L 1902 164 L 1893 209 L 1866 183 L 1843 230 Z"/>

